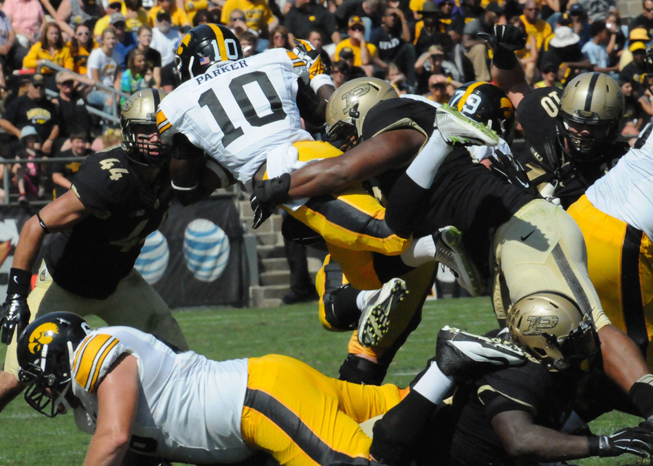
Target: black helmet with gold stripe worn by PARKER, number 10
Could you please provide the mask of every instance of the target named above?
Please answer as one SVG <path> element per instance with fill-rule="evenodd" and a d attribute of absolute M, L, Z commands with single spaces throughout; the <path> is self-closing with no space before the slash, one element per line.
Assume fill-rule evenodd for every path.
<path fill-rule="evenodd" d="M 206 72 L 216 63 L 231 62 L 243 57 L 241 43 L 228 27 L 201 24 L 181 38 L 173 71 L 181 83 Z"/>

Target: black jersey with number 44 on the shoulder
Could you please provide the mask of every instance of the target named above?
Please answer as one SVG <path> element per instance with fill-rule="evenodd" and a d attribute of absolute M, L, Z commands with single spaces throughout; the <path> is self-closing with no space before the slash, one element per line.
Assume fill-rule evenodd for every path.
<path fill-rule="evenodd" d="M 148 187 L 115 146 L 87 157 L 71 189 L 93 213 L 56 235 L 45 264 L 65 290 L 104 299 L 131 272 L 145 238 L 164 221 L 172 198 L 170 176 L 163 169 Z"/>

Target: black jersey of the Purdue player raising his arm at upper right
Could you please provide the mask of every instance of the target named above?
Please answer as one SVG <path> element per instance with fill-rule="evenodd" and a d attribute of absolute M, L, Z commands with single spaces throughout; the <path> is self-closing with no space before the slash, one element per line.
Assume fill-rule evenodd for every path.
<path fill-rule="evenodd" d="M 628 143 L 607 145 L 600 160 L 584 164 L 567 160 L 558 137 L 557 115 L 562 89 L 542 87 L 528 93 L 517 108 L 526 146 L 518 158 L 535 185 L 552 183 L 565 209 L 601 178 L 630 149 Z"/>

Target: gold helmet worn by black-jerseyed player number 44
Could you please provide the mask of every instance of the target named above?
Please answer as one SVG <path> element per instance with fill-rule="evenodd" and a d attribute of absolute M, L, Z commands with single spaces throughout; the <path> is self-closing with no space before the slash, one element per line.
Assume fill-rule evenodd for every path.
<path fill-rule="evenodd" d="M 160 139 L 153 142 L 143 137 L 158 132 L 157 110 L 166 95 L 168 93 L 159 89 L 143 89 L 132 94 L 122 105 L 122 148 L 127 158 L 137 165 L 161 167 L 168 159 L 169 151 Z"/>

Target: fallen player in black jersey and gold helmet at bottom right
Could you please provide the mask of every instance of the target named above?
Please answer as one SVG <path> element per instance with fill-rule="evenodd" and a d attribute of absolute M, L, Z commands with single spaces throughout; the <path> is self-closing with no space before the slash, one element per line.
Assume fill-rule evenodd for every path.
<path fill-rule="evenodd" d="M 653 433 L 624 428 L 612 435 L 561 432 L 600 357 L 591 318 L 558 292 L 526 296 L 513 307 L 505 338 L 529 353 L 521 366 L 498 368 L 458 386 L 439 406 L 409 393 L 373 428 L 370 456 L 388 466 L 555 463 L 589 456 L 653 456 Z M 423 426 L 430 421 L 430 431 Z"/>

